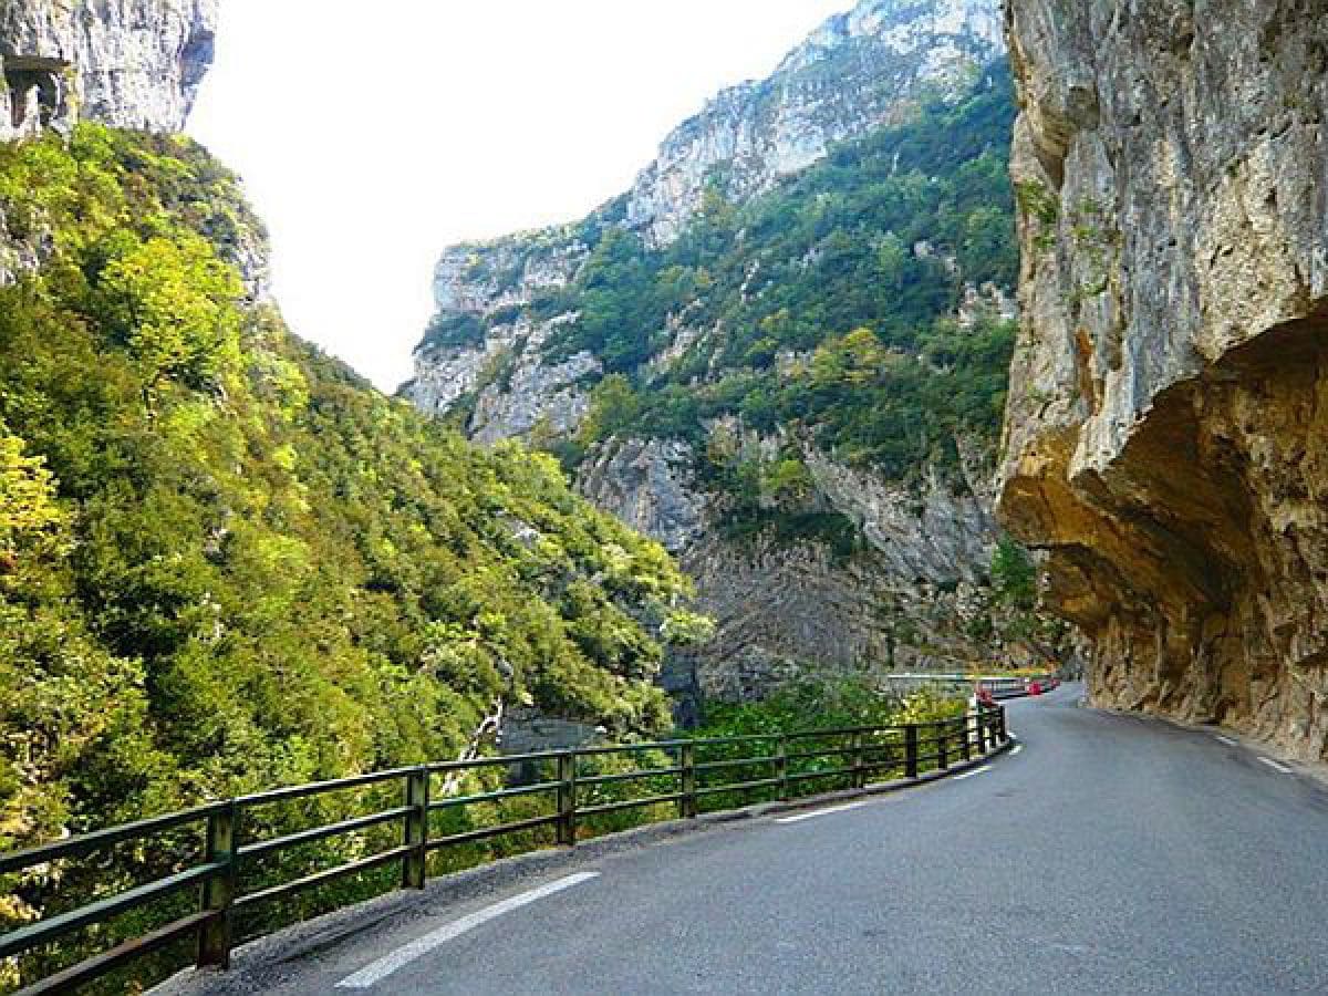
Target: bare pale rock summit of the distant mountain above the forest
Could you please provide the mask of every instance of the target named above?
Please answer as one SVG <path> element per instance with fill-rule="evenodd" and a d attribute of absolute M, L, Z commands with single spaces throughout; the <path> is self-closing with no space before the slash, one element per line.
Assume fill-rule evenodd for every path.
<path fill-rule="evenodd" d="M 673 131 L 632 187 L 628 223 L 669 243 L 712 183 L 730 202 L 762 194 L 833 142 L 903 120 L 928 89 L 954 89 L 1003 45 L 991 0 L 863 0 Z"/>

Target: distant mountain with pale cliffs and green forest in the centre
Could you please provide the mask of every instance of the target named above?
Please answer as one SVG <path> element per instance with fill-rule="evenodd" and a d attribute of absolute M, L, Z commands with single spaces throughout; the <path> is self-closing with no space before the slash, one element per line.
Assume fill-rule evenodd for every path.
<path fill-rule="evenodd" d="M 742 90 L 784 120 L 803 106 L 790 80 L 815 72 L 851 141 L 784 178 L 710 163 L 699 205 L 673 185 L 667 232 L 643 227 L 633 191 L 438 264 L 405 394 L 482 442 L 558 453 L 600 507 L 679 552 L 720 632 L 675 691 L 1048 649 L 1016 647 L 1037 627 L 989 576 L 1017 267 L 1009 77 L 972 54 L 991 54 L 995 16 L 861 4 Z M 942 17 L 956 33 L 938 36 Z M 903 23 L 920 45 L 906 57 Z M 888 113 L 865 89 L 882 76 L 912 81 Z M 720 120 L 712 105 L 661 162 Z"/>

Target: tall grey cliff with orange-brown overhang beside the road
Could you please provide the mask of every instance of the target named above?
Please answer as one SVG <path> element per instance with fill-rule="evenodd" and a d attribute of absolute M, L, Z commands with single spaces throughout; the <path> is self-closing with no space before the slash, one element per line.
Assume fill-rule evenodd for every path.
<path fill-rule="evenodd" d="M 1328 3 L 1013 0 L 1001 510 L 1098 703 L 1328 758 Z"/>

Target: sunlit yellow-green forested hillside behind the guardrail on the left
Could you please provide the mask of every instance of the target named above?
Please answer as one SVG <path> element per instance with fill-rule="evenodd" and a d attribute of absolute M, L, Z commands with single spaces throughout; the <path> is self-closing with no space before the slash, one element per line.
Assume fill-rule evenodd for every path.
<path fill-rule="evenodd" d="M 0 850 L 446 758 L 499 700 L 667 725 L 665 551 L 292 339 L 201 147 L 0 146 Z"/>

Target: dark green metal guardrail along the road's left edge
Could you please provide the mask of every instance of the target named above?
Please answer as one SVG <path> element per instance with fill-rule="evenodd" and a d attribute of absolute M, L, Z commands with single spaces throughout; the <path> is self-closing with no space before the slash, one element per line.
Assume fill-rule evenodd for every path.
<path fill-rule="evenodd" d="M 57 861 L 96 855 L 122 842 L 151 845 L 163 833 L 182 827 L 195 827 L 202 831 L 205 843 L 203 859 L 190 867 L 0 935 L 0 959 L 15 959 L 90 926 L 105 923 L 120 914 L 142 910 L 149 903 L 165 896 L 197 887 L 198 907 L 194 912 L 149 934 L 126 940 L 94 957 L 35 980 L 23 988 L 19 996 L 70 992 L 80 985 L 105 977 L 134 959 L 190 935 L 197 939 L 195 964 L 198 967 L 227 968 L 234 943 L 232 926 L 238 914 L 372 869 L 398 865 L 401 888 L 424 888 L 429 854 L 457 845 L 538 827 L 555 827 L 556 842 L 571 847 L 576 843 L 580 821 L 608 813 L 675 805 L 677 817 L 687 819 L 699 814 L 704 799 L 725 794 L 742 797 L 762 789 L 778 790 L 778 798 L 788 801 L 798 795 L 814 794 L 819 785 L 830 780 L 847 781 L 853 789 L 865 789 L 872 782 L 895 781 L 896 776 L 902 776 L 906 782 L 943 777 L 955 764 L 981 757 L 996 750 L 1008 740 L 1005 712 L 1000 706 L 993 706 L 952 720 L 908 725 L 673 740 L 450 761 L 242 795 L 183 813 L 143 819 L 0 855 L 0 875 L 11 875 Z M 704 760 L 706 753 L 732 748 L 752 753 L 741 757 Z M 582 764 L 594 758 L 632 757 L 643 753 L 651 753 L 656 757 L 668 756 L 675 762 L 667 766 L 611 774 L 586 774 L 584 764 Z M 818 769 L 809 764 L 826 760 L 835 760 L 835 766 Z M 470 795 L 430 797 L 437 776 L 456 777 L 457 774 L 530 762 L 552 765 L 556 777 L 551 781 L 515 785 Z M 728 776 L 734 780 L 726 781 Z M 647 788 L 655 794 L 611 802 L 587 802 L 587 793 L 599 786 L 629 785 L 652 780 L 653 788 Z M 669 790 L 657 790 L 661 780 L 668 780 Z M 333 823 L 311 826 L 282 837 L 244 838 L 247 818 L 260 814 L 264 807 L 392 782 L 401 786 L 402 805 L 400 806 Z M 554 810 L 547 815 L 444 837 L 430 834 L 433 814 L 519 797 L 546 797 L 554 803 Z M 730 801 L 736 802 L 737 799 Z M 246 870 L 259 858 L 390 823 L 401 827 L 400 843 L 396 846 L 278 884 L 252 891 L 247 888 L 251 883 L 246 876 Z"/>

